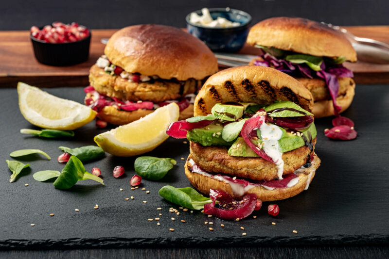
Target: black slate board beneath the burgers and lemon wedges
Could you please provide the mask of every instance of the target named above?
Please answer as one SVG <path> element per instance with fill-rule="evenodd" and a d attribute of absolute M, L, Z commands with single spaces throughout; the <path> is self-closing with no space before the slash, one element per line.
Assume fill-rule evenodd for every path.
<path fill-rule="evenodd" d="M 48 92 L 82 102 L 82 88 L 56 88 Z M 266 213 L 269 203 L 256 211 L 256 219 L 227 222 L 195 211 L 180 215 L 168 212 L 172 205 L 158 195 L 160 187 L 190 186 L 180 158 L 189 154 L 188 144 L 169 139 L 151 156 L 171 157 L 177 166 L 159 182 L 143 180 L 140 189 L 131 191 L 129 179 L 134 174 L 135 158 L 106 158 L 86 163 L 87 170 L 99 167 L 105 186 L 92 181 L 77 183 L 70 190 L 56 190 L 52 183 L 37 182 L 36 171 L 61 170 L 56 161 L 58 146 L 92 145 L 93 136 L 105 129 L 93 123 L 77 129 L 70 140 L 44 140 L 18 133 L 34 128 L 18 110 L 16 89 L 0 90 L 0 248 L 91 248 L 91 247 L 167 247 L 231 246 L 275 244 L 387 244 L 389 241 L 389 88 L 388 85 L 358 85 L 354 103 L 345 116 L 352 118 L 358 131 L 354 141 L 327 139 L 323 130 L 331 126 L 330 118 L 315 121 L 318 128 L 316 152 L 322 163 L 308 191 L 293 198 L 273 202 L 280 206 L 277 217 Z M 39 148 L 52 156 L 51 161 L 29 162 L 27 171 L 9 183 L 10 171 L 5 163 L 9 153 L 22 148 Z M 126 173 L 113 178 L 112 169 L 123 165 Z M 25 187 L 24 184 L 29 186 Z M 124 191 L 119 191 L 123 188 Z M 134 196 L 134 200 L 124 198 Z M 147 203 L 142 203 L 146 200 Z M 94 210 L 95 204 L 99 205 Z M 156 210 L 161 207 L 162 210 Z M 75 212 L 74 209 L 79 209 Z M 49 214 L 54 213 L 51 217 Z M 158 213 L 162 213 L 159 216 Z M 147 219 L 160 217 L 161 226 Z M 176 218 L 175 221 L 171 217 Z M 181 220 L 186 223 L 181 223 Z M 213 231 L 204 222 L 214 222 Z M 271 225 L 276 222 L 277 225 Z M 225 227 L 220 227 L 223 223 Z M 30 224 L 35 224 L 31 227 Z M 169 228 L 174 228 L 170 232 Z M 240 227 L 244 227 L 242 231 Z M 298 234 L 292 233 L 297 230 Z M 247 236 L 242 236 L 246 232 Z"/>

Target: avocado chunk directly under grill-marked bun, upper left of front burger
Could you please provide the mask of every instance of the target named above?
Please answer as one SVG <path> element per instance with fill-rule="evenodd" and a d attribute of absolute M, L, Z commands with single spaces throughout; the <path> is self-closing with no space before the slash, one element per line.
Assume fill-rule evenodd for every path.
<path fill-rule="evenodd" d="M 246 106 L 238 102 L 216 103 L 212 107 L 212 115 L 218 119 L 236 121 L 245 113 Z"/>

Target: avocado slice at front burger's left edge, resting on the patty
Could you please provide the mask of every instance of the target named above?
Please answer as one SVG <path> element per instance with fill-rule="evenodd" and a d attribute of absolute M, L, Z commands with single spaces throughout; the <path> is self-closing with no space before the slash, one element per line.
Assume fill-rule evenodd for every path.
<path fill-rule="evenodd" d="M 223 125 L 218 122 L 206 127 L 189 130 L 186 138 L 202 146 L 231 146 L 233 141 L 228 142 L 222 138 Z"/>

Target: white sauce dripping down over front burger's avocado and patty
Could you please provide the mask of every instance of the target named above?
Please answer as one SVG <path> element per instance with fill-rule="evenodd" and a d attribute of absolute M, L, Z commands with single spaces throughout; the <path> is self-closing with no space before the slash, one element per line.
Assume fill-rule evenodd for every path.
<path fill-rule="evenodd" d="M 264 142 L 262 148 L 266 155 L 276 162 L 277 177 L 281 180 L 283 179 L 283 153 L 280 152 L 278 140 L 281 139 L 283 131 L 278 126 L 265 123 L 265 120 L 259 129 Z"/>

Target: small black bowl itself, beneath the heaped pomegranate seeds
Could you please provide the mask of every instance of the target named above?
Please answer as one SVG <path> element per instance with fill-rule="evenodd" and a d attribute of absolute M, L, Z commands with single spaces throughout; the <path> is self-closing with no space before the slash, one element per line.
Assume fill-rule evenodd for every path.
<path fill-rule="evenodd" d="M 90 36 L 91 32 L 89 31 L 88 37 L 79 41 L 48 43 L 34 38 L 30 33 L 36 60 L 45 65 L 55 66 L 75 65 L 87 61 Z"/>

